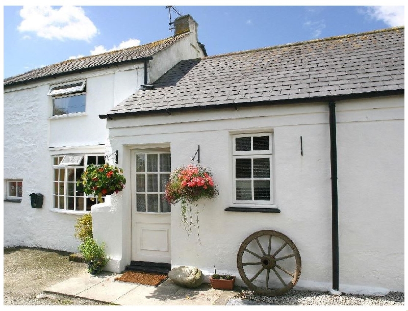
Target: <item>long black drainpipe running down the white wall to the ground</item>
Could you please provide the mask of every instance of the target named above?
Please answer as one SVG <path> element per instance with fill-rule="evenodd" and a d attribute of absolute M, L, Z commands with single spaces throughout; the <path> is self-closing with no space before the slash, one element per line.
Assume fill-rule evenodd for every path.
<path fill-rule="evenodd" d="M 336 103 L 330 101 L 330 164 L 331 164 L 331 251 L 333 260 L 333 290 L 339 292 L 339 213 L 337 205 L 337 145 Z"/>

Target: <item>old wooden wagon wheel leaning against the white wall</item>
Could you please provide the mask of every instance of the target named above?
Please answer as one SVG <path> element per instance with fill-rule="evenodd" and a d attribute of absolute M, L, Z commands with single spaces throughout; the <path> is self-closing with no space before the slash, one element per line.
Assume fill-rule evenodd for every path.
<path fill-rule="evenodd" d="M 299 279 L 300 254 L 281 232 L 261 230 L 242 242 L 237 267 L 249 289 L 266 296 L 282 295 Z"/>

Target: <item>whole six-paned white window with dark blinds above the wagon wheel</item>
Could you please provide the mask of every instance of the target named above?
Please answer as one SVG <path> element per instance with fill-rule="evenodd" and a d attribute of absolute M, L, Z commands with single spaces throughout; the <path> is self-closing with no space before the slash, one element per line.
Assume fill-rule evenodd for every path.
<path fill-rule="evenodd" d="M 234 203 L 272 204 L 272 134 L 233 137 Z"/>

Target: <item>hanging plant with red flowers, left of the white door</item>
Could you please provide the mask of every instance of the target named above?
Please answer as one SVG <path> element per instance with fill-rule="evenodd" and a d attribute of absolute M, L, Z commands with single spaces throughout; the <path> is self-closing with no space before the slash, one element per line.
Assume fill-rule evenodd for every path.
<path fill-rule="evenodd" d="M 82 173 L 77 185 L 84 187 L 86 194 L 93 194 L 102 203 L 105 195 L 122 191 L 126 184 L 126 178 L 122 175 L 123 170 L 108 163 L 100 166 L 89 165 Z M 91 198 L 94 200 L 94 198 Z"/>

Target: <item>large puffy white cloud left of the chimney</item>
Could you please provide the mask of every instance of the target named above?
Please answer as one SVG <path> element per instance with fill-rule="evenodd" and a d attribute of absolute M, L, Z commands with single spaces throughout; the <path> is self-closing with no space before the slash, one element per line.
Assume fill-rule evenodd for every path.
<path fill-rule="evenodd" d="M 53 9 L 50 6 L 23 6 L 20 16 L 22 21 L 17 27 L 18 31 L 33 32 L 46 39 L 89 41 L 98 33 L 81 7 Z"/>

